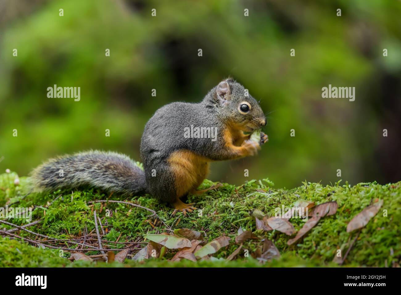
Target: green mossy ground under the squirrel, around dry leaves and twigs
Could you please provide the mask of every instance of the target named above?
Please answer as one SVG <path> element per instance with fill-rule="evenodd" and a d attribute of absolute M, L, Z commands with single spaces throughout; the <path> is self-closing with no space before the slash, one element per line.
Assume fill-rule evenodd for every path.
<path fill-rule="evenodd" d="M 97 210 L 98 215 L 103 218 L 103 224 L 107 220 L 109 226 L 103 239 L 109 241 L 116 241 L 118 237 L 119 242 L 143 241 L 143 236 L 147 233 L 166 231 L 166 226 L 162 223 L 158 222 L 156 226 L 154 225 L 154 218 L 148 217 L 150 212 L 146 210 L 121 203 L 103 203 L 103 207 L 101 203 L 88 204 L 89 201 L 109 198 L 109 194 L 96 189 L 32 193 L 22 198 L 26 193 L 28 178 L 20 178 L 20 185 L 15 186 L 13 181 L 16 177 L 14 173 L 0 175 L 0 207 L 16 201 L 19 203 L 12 205 L 13 207 L 36 206 L 32 211 L 32 221 L 41 220 L 41 222 L 29 227 L 29 230 L 33 232 L 57 239 L 82 236 L 85 226 L 89 232 L 95 228 L 93 210 Z M 205 180 L 201 188 L 209 187 L 211 184 L 213 184 L 211 181 Z M 62 197 L 54 201 L 49 208 L 45 208 L 59 195 Z M 209 241 L 228 235 L 231 237 L 230 244 L 213 254 L 217 259 L 207 261 L 191 262 L 185 259 L 180 262 L 167 261 L 174 255 L 176 252 L 174 251 L 168 252 L 165 258 L 152 258 L 144 262 L 126 259 L 124 264 L 87 261 L 72 263 L 67 259 L 69 252 L 64 253 L 65 257 L 59 257 L 57 249 L 42 249 L 21 242 L 19 239 L 0 237 L 0 267 L 332 267 L 338 265 L 332 262 L 336 251 L 341 249 L 344 254 L 356 236 L 357 231 L 346 232 L 348 222 L 377 199 L 383 199 L 382 208 L 360 231 L 343 265 L 385 267 L 391 266 L 393 262 L 399 263 L 401 258 L 401 182 L 387 185 L 359 183 L 354 186 L 347 183 L 340 185 L 340 181 L 326 186 L 320 183 L 304 182 L 300 187 L 290 190 L 274 189 L 273 183 L 268 179 L 249 181 L 238 187 L 225 183 L 217 191 L 208 191 L 201 196 L 189 196 L 188 201 L 195 202 L 196 207 L 202 210 L 202 214 L 196 211 L 186 217 L 182 213 L 170 216 L 172 209 L 167 204 L 158 203 L 156 199 L 149 196 L 123 198 L 113 194 L 110 199 L 130 201 L 155 210 L 172 230 L 190 228 L 203 233 L 205 240 Z M 284 233 L 276 230 L 267 233 L 255 232 L 253 217 L 255 210 L 273 216 L 275 208 L 281 208 L 282 205 L 291 207 L 299 199 L 314 201 L 316 205 L 336 201 L 338 211 L 334 216 L 322 218 L 304 238 L 292 246 L 287 245 L 290 237 Z M 113 212 L 111 217 L 105 217 L 106 209 Z M 387 216 L 383 214 L 383 210 L 387 210 Z M 28 223 L 15 218 L 7 221 L 18 225 Z M 296 218 L 292 218 L 290 222 L 294 224 L 297 231 L 304 224 L 301 219 Z M 282 256 L 277 260 L 261 264 L 251 258 L 251 255 L 244 257 L 244 252 L 241 250 L 236 260 L 223 260 L 238 248 L 234 239 L 240 227 L 253 231 L 260 238 L 273 240 Z M 12 227 L 1 224 L 0 228 Z M 32 240 L 43 239 L 22 230 L 14 234 Z M 260 239 L 247 240 L 242 249 L 249 250 L 251 254 L 261 244 L 263 243 Z M 55 245 L 75 248 L 73 245 L 68 246 L 62 242 Z M 123 247 L 124 244 L 117 244 L 116 248 Z M 132 254 L 135 253 L 136 251 Z M 91 251 L 86 254 L 99 254 L 99 252 Z"/>

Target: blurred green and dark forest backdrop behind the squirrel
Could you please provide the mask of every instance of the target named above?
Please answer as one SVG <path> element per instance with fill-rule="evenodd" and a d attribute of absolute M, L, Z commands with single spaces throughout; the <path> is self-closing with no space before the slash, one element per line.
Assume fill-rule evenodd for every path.
<path fill-rule="evenodd" d="M 270 112 L 269 142 L 209 179 L 401 180 L 399 0 L 0 0 L 0 171 L 86 149 L 140 161 L 158 108 L 198 102 L 229 75 Z M 54 84 L 81 87 L 81 100 L 47 98 Z M 328 84 L 356 87 L 355 101 L 322 98 Z"/>

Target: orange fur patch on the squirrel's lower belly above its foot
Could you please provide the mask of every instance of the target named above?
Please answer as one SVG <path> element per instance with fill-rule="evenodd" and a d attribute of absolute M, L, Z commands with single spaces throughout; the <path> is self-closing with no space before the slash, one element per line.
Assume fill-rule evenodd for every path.
<path fill-rule="evenodd" d="M 196 189 L 209 173 L 210 160 L 188 150 L 173 152 L 168 163 L 174 174 L 177 197 Z"/>

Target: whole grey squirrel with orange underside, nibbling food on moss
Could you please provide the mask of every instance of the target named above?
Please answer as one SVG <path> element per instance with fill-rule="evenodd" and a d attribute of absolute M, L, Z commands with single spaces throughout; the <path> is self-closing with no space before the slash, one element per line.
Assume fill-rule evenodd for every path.
<path fill-rule="evenodd" d="M 143 170 L 130 157 L 114 152 L 64 155 L 32 171 L 33 191 L 87 185 L 122 195 L 148 193 L 172 203 L 172 215 L 183 212 L 186 216 L 196 207 L 181 198 L 219 187 L 196 190 L 209 172 L 209 163 L 255 155 L 268 138 L 260 132 L 260 139 L 255 139 L 251 133 L 265 125 L 266 117 L 257 100 L 228 78 L 199 103 L 173 102 L 154 113 L 140 143 Z M 189 132 L 185 136 L 190 128 L 191 136 Z M 192 133 L 199 129 L 206 136 Z M 214 130 L 211 138 L 210 131 Z"/>

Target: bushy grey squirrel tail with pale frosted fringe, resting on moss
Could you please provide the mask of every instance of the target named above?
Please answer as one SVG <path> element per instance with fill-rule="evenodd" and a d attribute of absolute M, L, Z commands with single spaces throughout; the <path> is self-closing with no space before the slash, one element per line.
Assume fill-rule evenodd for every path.
<path fill-rule="evenodd" d="M 90 186 L 124 195 L 146 193 L 145 173 L 130 157 L 88 151 L 50 159 L 31 177 L 33 191 Z"/>

